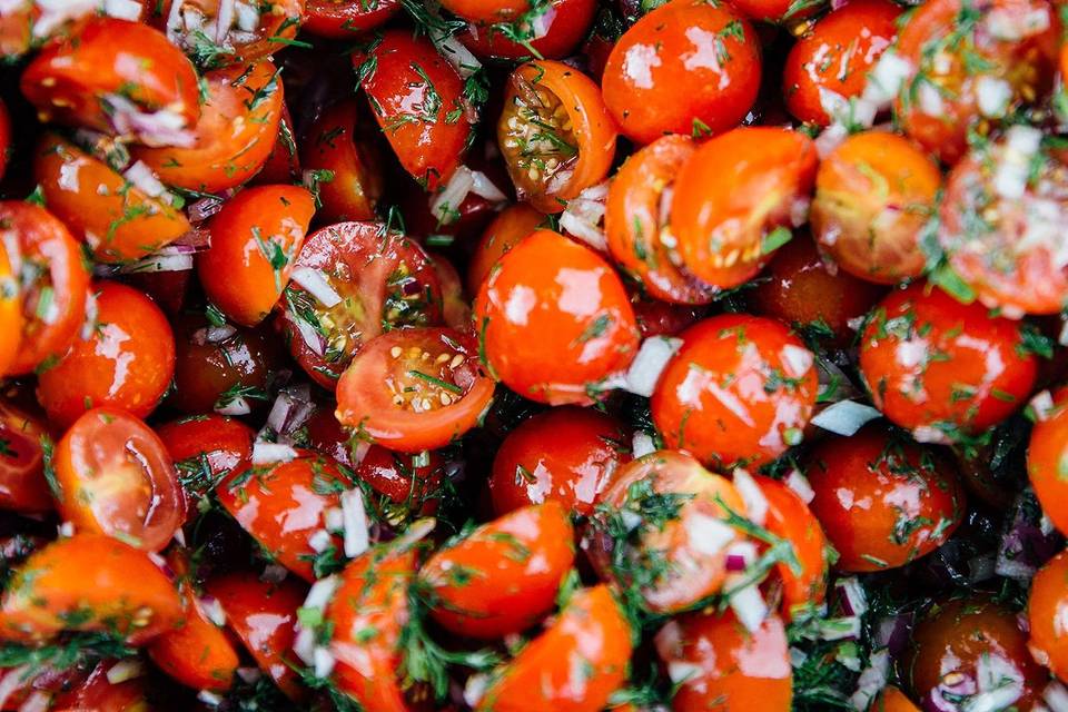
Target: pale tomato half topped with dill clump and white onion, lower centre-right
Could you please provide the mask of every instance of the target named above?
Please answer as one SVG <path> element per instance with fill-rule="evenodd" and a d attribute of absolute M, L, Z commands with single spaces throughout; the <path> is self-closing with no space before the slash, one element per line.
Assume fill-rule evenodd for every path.
<path fill-rule="evenodd" d="M 664 503 L 673 504 L 673 510 L 662 512 Z M 745 504 L 730 479 L 708 472 L 689 455 L 660 451 L 621 467 L 597 504 L 591 561 L 603 578 L 624 589 L 640 586 L 651 611 L 683 611 L 723 586 L 728 547 L 705 545 L 699 541 L 704 535 L 690 532 L 728 528 L 723 520 L 730 512 L 745 515 Z M 629 518 L 637 525 L 629 526 Z M 610 533 L 620 526 L 630 534 L 613 545 Z M 649 581 L 635 582 L 633 572 L 643 568 L 651 570 L 643 575 Z"/>

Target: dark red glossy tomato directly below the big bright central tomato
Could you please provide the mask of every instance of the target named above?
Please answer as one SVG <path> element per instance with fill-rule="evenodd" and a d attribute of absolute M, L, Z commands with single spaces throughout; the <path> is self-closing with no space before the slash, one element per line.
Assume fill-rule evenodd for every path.
<path fill-rule="evenodd" d="M 505 514 L 555 501 L 589 516 L 630 453 L 626 429 L 612 416 L 572 406 L 535 415 L 497 451 L 490 478 L 493 508 Z"/>

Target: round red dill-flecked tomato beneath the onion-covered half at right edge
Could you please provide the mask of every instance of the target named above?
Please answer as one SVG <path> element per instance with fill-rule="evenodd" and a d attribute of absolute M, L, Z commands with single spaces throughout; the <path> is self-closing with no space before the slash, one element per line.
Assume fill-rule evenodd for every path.
<path fill-rule="evenodd" d="M 1024 405 L 1038 358 L 1020 325 L 916 284 L 872 310 L 860 372 L 872 402 L 923 442 L 950 443 Z"/>

